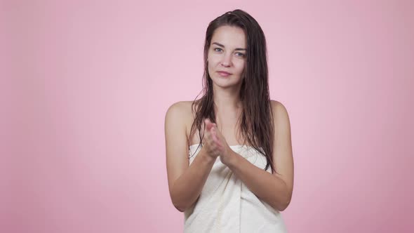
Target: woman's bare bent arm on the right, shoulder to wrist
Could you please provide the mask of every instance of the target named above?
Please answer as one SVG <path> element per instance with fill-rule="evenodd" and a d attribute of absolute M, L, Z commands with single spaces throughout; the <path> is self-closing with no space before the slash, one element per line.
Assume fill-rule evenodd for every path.
<path fill-rule="evenodd" d="M 284 211 L 290 204 L 293 193 L 291 124 L 288 112 L 281 102 L 272 100 L 272 111 L 275 127 L 272 157 L 274 168 L 279 174 L 258 168 L 229 148 L 224 150 L 220 159 L 251 192 L 276 210 Z M 219 138 L 223 139 L 222 135 Z M 228 147 L 227 143 L 224 144 Z"/>

